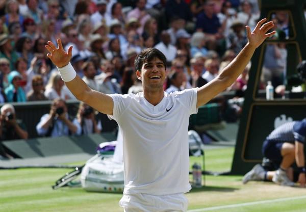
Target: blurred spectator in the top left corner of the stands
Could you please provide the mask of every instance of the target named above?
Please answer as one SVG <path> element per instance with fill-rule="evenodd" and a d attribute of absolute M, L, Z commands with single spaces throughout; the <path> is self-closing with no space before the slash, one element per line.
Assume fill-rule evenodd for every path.
<path fill-rule="evenodd" d="M 19 4 L 16 0 L 9 0 L 6 3 L 6 15 L 5 15 L 5 24 L 7 26 L 10 23 L 19 22 L 23 23 L 23 16 L 19 15 Z"/>

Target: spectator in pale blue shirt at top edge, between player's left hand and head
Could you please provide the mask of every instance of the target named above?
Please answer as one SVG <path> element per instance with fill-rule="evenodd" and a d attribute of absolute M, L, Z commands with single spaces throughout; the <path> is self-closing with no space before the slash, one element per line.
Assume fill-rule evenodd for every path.
<path fill-rule="evenodd" d="M 107 13 L 107 4 L 106 0 L 96 0 L 97 11 L 90 16 L 92 24 L 104 21 L 106 25 L 111 25 L 112 18 Z"/>

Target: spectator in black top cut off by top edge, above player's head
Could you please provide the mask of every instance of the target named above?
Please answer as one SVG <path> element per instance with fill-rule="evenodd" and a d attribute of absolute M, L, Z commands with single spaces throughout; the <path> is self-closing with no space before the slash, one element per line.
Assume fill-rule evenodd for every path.
<path fill-rule="evenodd" d="M 165 15 L 169 23 L 172 17 L 179 17 L 186 22 L 192 21 L 192 13 L 185 1 L 168 0 L 165 5 Z"/>

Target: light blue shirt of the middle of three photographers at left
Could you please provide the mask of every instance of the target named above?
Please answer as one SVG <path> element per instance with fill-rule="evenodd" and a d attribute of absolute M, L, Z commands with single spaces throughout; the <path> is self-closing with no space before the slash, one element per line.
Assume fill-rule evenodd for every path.
<path fill-rule="evenodd" d="M 49 129 L 48 128 L 45 129 L 42 127 L 42 125 L 46 122 L 48 117 L 49 117 L 49 114 L 44 114 L 40 118 L 40 122 L 36 125 L 37 134 L 39 136 L 45 136 L 48 133 Z M 68 114 L 66 114 L 66 118 L 68 118 Z M 82 128 L 78 122 L 78 119 L 74 118 L 72 123 L 78 128 L 77 132 L 73 135 L 80 136 L 82 133 Z M 69 128 L 62 120 L 55 118 L 53 125 L 54 127 L 51 131 L 50 137 L 69 136 Z"/>

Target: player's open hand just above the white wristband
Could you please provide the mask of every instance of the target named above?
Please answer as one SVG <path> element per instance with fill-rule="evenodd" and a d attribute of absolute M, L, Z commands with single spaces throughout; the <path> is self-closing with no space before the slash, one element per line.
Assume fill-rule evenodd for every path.
<path fill-rule="evenodd" d="M 57 39 L 57 43 L 58 48 L 51 41 L 48 41 L 45 47 L 49 51 L 47 57 L 50 58 L 54 65 L 61 68 L 69 63 L 72 57 L 72 46 L 69 46 L 68 52 L 66 52 L 63 48 L 61 39 Z"/>

